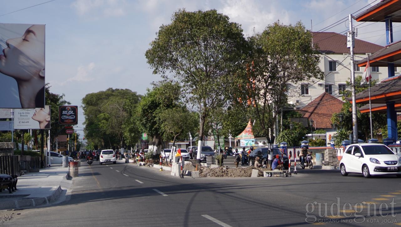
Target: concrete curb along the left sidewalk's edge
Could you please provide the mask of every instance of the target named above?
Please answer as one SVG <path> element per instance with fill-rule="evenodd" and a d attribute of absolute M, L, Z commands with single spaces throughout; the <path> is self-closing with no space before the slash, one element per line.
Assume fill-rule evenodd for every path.
<path fill-rule="evenodd" d="M 63 179 L 67 179 L 68 176 L 69 174 L 67 173 L 65 176 L 63 176 Z M 53 190 L 51 194 L 47 197 L 38 197 L 38 198 L 28 197 L 26 199 L 0 202 L 0 210 L 20 209 L 26 207 L 47 205 L 50 204 L 51 202 L 56 201 L 59 198 L 62 191 L 63 189 L 61 188 L 61 185 L 59 185 L 58 188 L 56 190 Z"/>

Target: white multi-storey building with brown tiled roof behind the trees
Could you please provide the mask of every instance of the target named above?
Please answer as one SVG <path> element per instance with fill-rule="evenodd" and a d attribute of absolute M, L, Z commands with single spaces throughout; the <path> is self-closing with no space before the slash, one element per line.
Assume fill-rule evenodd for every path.
<path fill-rule="evenodd" d="M 324 80 L 315 78 L 298 84 L 288 85 L 288 102 L 300 109 L 326 92 L 342 99 L 340 91 L 350 89 L 346 82 L 350 81 L 350 50 L 347 48 L 346 36 L 336 32 L 312 32 L 313 43 L 317 44 L 320 53 L 319 67 L 324 71 Z M 383 49 L 383 46 L 355 39 L 355 60 L 362 60 L 367 53 L 372 54 Z M 356 66 L 355 77 L 362 76 L 365 67 Z M 400 67 L 401 70 L 401 67 Z M 371 67 L 371 75 L 375 80 L 387 78 L 387 67 Z"/>

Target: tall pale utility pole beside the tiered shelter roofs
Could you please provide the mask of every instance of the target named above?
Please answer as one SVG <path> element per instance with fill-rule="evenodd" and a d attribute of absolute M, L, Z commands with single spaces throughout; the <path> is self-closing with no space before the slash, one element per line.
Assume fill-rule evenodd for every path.
<path fill-rule="evenodd" d="M 350 30 L 347 33 L 347 47 L 351 53 L 351 93 L 352 93 L 352 133 L 354 134 L 354 143 L 358 142 L 358 119 L 356 118 L 355 103 L 355 73 L 354 73 L 354 31 L 352 28 L 352 15 L 349 14 Z"/>

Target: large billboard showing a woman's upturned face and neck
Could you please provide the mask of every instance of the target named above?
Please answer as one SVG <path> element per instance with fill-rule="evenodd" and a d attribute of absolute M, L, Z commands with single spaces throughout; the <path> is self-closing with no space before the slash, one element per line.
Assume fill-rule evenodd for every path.
<path fill-rule="evenodd" d="M 0 23 L 0 108 L 45 107 L 45 25 Z"/>

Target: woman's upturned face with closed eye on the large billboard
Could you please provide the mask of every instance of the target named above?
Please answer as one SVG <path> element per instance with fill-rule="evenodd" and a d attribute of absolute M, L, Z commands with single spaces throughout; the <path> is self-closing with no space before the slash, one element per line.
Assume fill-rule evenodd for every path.
<path fill-rule="evenodd" d="M 0 72 L 19 80 L 44 76 L 45 26 L 32 25 L 18 38 L 8 39 L 0 55 Z"/>

